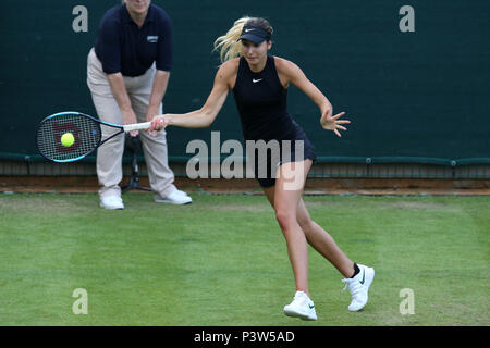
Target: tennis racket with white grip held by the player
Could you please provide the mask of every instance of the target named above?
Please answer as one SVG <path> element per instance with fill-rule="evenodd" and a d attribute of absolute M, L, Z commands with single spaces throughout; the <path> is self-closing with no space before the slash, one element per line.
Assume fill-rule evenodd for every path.
<path fill-rule="evenodd" d="M 102 140 L 100 125 L 117 128 L 119 132 Z M 150 126 L 151 122 L 117 125 L 79 112 L 60 112 L 39 123 L 36 144 L 37 149 L 46 159 L 61 163 L 73 162 L 82 160 L 99 146 L 120 134 L 143 130 Z M 63 135 L 69 141 L 62 142 Z"/>

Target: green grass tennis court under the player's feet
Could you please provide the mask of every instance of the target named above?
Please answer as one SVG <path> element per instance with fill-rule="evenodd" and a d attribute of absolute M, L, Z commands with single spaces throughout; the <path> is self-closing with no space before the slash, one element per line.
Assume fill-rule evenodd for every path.
<path fill-rule="evenodd" d="M 342 275 L 309 249 L 318 322 L 287 318 L 294 281 L 264 196 L 0 195 L 0 325 L 490 325 L 488 197 L 306 196 L 311 217 L 376 269 L 348 312 Z M 77 288 L 88 314 L 74 314 Z M 414 314 L 402 315 L 402 289 Z"/>

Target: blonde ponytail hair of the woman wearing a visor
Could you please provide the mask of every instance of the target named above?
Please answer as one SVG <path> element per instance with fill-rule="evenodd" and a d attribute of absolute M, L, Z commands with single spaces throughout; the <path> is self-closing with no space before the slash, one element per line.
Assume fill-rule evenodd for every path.
<path fill-rule="evenodd" d="M 215 48 L 212 51 L 220 51 L 221 63 L 241 55 L 242 41 L 238 41 L 242 36 L 242 30 L 245 25 L 259 27 L 272 35 L 272 27 L 265 18 L 243 16 L 233 23 L 233 26 L 225 35 L 220 36 L 215 40 Z"/>

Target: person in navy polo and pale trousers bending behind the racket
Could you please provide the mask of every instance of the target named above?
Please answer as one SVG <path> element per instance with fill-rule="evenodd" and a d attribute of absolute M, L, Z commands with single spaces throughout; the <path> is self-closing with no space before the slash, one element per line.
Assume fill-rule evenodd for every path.
<path fill-rule="evenodd" d="M 113 124 L 151 121 L 162 114 L 173 61 L 169 15 L 150 0 L 123 0 L 106 12 L 87 59 L 87 85 L 100 120 Z M 103 138 L 111 129 L 103 128 Z M 132 132 L 131 136 L 137 136 Z M 155 201 L 173 204 L 192 199 L 173 185 L 164 132 L 142 132 L 142 144 Z M 124 209 L 122 181 L 124 137 L 97 151 L 100 207 Z"/>

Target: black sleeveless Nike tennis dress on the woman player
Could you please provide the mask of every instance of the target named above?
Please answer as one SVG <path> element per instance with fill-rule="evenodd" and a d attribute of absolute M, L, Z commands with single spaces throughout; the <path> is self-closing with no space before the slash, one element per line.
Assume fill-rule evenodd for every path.
<path fill-rule="evenodd" d="M 280 151 L 275 151 L 280 152 L 279 158 L 272 150 L 267 150 L 267 156 L 261 156 L 265 152 L 259 151 L 257 146 L 253 149 L 255 161 L 248 164 L 254 164 L 255 178 L 261 187 L 271 187 L 275 184 L 275 172 L 280 164 L 306 159 L 316 160 L 314 146 L 287 112 L 287 89 L 279 79 L 272 55 L 267 57 L 266 66 L 259 73 L 250 71 L 246 60 L 240 58 L 233 94 L 245 140 L 254 140 L 256 145 L 259 144 L 258 140 L 264 140 L 269 145 L 277 144 L 280 148 Z M 278 141 L 270 142 L 271 140 Z M 247 147 L 247 150 L 250 148 Z M 253 152 L 247 151 L 248 159 L 250 154 Z"/>

